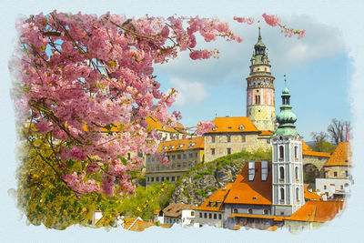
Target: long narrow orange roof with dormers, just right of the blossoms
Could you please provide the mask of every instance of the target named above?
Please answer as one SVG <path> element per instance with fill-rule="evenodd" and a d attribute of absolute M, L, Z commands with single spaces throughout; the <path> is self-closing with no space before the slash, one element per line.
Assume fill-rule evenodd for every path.
<path fill-rule="evenodd" d="M 191 138 L 161 142 L 158 145 L 157 150 L 162 151 L 164 148 L 166 152 L 171 152 L 171 151 L 180 151 L 180 150 L 196 149 L 196 148 L 204 149 L 204 147 L 205 147 L 205 137 L 191 137 Z"/>

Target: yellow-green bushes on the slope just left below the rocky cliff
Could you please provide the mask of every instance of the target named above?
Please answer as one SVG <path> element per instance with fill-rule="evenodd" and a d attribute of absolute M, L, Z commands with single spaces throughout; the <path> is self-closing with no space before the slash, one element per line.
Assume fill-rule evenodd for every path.
<path fill-rule="evenodd" d="M 136 187 L 136 196 L 124 199 L 117 210 L 127 217 L 153 219 L 155 210 L 167 207 L 174 190 L 175 184 Z"/>

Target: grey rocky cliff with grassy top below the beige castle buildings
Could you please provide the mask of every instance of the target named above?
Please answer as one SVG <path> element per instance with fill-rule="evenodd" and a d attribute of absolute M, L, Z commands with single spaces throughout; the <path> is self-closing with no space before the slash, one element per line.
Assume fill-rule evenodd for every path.
<path fill-rule="evenodd" d="M 241 153 L 219 157 L 207 164 L 191 168 L 184 177 L 179 178 L 170 203 L 200 205 L 218 188 L 234 182 L 248 160 L 271 160 L 270 151 L 258 150 L 254 153 Z"/>

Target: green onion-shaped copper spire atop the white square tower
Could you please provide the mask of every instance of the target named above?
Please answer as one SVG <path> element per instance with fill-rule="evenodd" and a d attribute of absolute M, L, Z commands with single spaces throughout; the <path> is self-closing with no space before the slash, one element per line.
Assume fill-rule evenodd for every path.
<path fill-rule="evenodd" d="M 287 79 L 285 75 L 285 87 L 282 90 L 282 106 L 280 106 L 280 112 L 277 116 L 279 123 L 278 129 L 275 135 L 281 134 L 283 136 L 296 136 L 298 132 L 294 123 L 297 121 L 297 116 L 292 111 L 292 106 L 289 105 L 289 90 L 287 87 Z"/>

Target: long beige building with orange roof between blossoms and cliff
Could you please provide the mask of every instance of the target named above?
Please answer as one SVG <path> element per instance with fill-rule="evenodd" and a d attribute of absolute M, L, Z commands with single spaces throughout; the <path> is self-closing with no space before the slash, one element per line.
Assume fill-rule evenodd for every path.
<path fill-rule="evenodd" d="M 165 180 L 174 182 L 182 177 L 191 167 L 204 162 L 204 137 L 191 137 L 161 142 L 157 151 L 166 152 L 172 162 L 169 166 L 159 163 L 156 157 L 147 155 L 147 186 L 162 183 Z"/>

